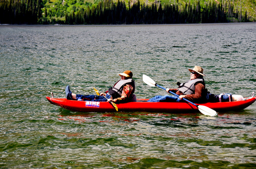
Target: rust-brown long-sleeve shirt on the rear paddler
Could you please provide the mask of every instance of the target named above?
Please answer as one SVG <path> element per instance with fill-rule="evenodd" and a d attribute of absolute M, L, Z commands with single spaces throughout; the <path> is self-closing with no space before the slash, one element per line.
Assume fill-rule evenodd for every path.
<path fill-rule="evenodd" d="M 204 102 L 204 98 L 202 98 L 202 92 L 204 91 L 205 86 L 202 83 L 197 83 L 195 85 L 195 93 L 194 94 L 186 94 L 185 98 L 194 101 L 194 102 Z M 178 94 L 183 95 L 182 92 L 178 90 L 178 88 L 171 88 L 170 91 Z"/>

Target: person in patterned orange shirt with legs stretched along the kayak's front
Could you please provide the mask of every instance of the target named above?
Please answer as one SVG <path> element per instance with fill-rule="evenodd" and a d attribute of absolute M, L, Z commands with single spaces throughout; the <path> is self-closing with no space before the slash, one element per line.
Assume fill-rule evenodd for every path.
<path fill-rule="evenodd" d="M 83 100 L 83 101 L 94 101 L 94 102 L 136 102 L 136 96 L 134 93 L 135 82 L 132 79 L 131 71 L 124 71 L 118 74 L 121 80 L 117 81 L 113 87 L 110 87 L 105 93 L 97 95 L 82 95 L 74 94 L 70 91 L 69 86 L 66 86 L 66 96 L 68 100 Z M 104 98 L 104 96 L 108 98 Z"/>

